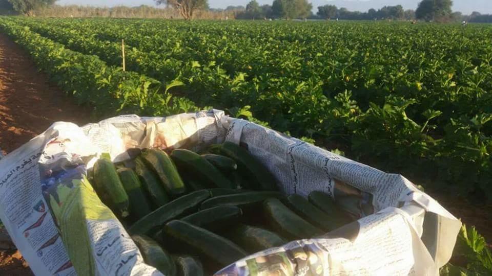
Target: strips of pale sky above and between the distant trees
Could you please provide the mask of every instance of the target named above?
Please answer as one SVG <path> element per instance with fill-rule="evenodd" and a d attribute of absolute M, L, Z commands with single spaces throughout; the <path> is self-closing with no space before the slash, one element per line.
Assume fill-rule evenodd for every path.
<path fill-rule="evenodd" d="M 226 8 L 227 6 L 246 6 L 250 0 L 209 0 L 211 8 Z M 257 0 L 260 5 L 272 4 L 273 0 Z M 337 7 L 346 7 L 348 10 L 367 11 L 370 8 L 381 8 L 386 5 L 402 5 L 404 9 L 416 9 L 420 0 L 308 0 L 313 3 L 314 10 L 325 4 L 335 4 Z M 492 14 L 492 0 L 454 0 L 453 10 L 469 14 L 472 11 Z M 59 5 L 91 5 L 113 7 L 154 5 L 153 0 L 59 0 Z"/>

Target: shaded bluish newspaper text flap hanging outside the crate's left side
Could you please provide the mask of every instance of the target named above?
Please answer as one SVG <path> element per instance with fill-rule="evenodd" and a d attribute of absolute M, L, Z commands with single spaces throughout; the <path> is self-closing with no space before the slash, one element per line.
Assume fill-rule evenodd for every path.
<path fill-rule="evenodd" d="M 38 160 L 45 155 L 39 149 L 23 153 L 18 162 L 7 157 L 0 166 L 1 219 L 37 275 L 75 275 L 42 195 Z"/>

